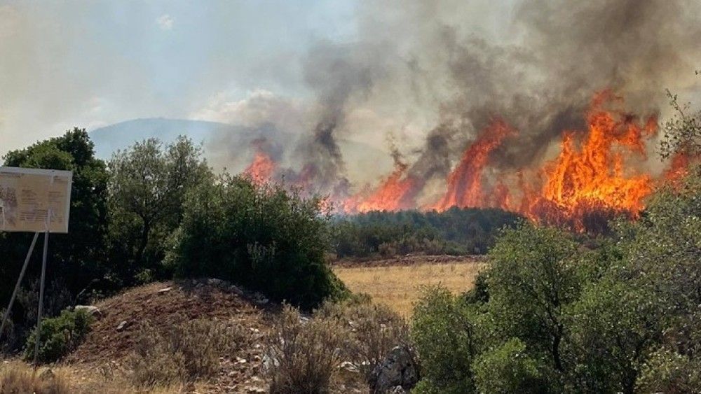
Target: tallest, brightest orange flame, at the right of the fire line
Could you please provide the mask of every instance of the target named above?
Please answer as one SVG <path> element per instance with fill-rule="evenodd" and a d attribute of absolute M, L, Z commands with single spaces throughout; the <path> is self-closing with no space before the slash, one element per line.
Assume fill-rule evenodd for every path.
<path fill-rule="evenodd" d="M 651 117 L 641 126 L 633 116 L 602 108 L 615 100 L 620 98 L 608 91 L 594 97 L 579 149 L 574 134 L 564 133 L 561 153 L 540 172 L 545 179 L 540 193 L 524 192 L 522 213 L 539 223 L 567 223 L 573 230 L 585 230 L 585 214 L 591 211 L 637 217 L 653 180 L 634 166 L 625 174 L 625 159 L 645 155 L 645 139 L 657 131 L 657 120 Z"/>

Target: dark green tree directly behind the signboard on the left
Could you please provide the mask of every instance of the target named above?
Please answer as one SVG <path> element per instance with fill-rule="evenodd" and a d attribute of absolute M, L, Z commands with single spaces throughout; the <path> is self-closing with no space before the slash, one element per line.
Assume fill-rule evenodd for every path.
<path fill-rule="evenodd" d="M 93 143 L 85 129 L 73 129 L 63 136 L 13 150 L 4 156 L 4 165 L 73 171 L 70 234 L 52 234 L 47 277 L 60 281 L 72 295 L 94 285 L 109 272 L 104 261 L 107 234 L 107 184 L 109 174 L 102 160 L 95 159 Z M 0 277 L 17 278 L 33 234 L 0 234 Z M 34 253 L 27 270 L 36 278 L 41 253 Z M 0 300 L 9 300 L 13 280 L 0 284 Z M 66 305 L 61 305 L 60 308 Z M 16 313 L 15 323 L 27 323 Z"/>

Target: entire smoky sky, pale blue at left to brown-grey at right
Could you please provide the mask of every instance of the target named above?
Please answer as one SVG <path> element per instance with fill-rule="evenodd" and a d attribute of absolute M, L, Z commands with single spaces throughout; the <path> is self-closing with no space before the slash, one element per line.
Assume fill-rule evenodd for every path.
<path fill-rule="evenodd" d="M 689 99 L 699 91 L 701 4 L 692 0 L 103 4 L 111 13 L 100 13 L 100 3 L 89 10 L 69 4 L 81 21 L 107 18 L 103 24 L 117 30 L 135 23 L 137 34 L 133 43 L 91 40 L 83 30 L 96 29 L 93 21 L 64 29 L 54 38 L 60 45 L 45 36 L 63 31 L 50 15 L 63 8 L 30 4 L 0 6 L 0 48 L 20 55 L 0 63 L 0 145 L 18 148 L 31 142 L 27 135 L 62 132 L 34 134 L 32 127 L 147 116 L 215 120 L 267 138 L 242 144 L 226 132 L 211 136 L 205 150 L 215 167 L 243 170 L 241 157 L 261 151 L 275 162 L 271 176 L 339 199 L 396 175 L 412 181 L 405 204 L 425 206 L 445 192 L 463 153 L 495 121 L 516 132 L 491 150 L 482 169 L 488 177 L 552 160 L 563 132 L 587 131 L 597 92 L 622 97 L 612 105 L 642 122 L 665 117 L 665 88 Z M 304 17 L 295 22 L 285 13 Z M 301 27 L 310 20 L 314 34 Z M 72 67 L 76 59 L 86 64 Z M 32 72 L 41 78 L 32 82 Z M 347 141 L 386 151 L 387 162 L 365 162 L 362 151 L 343 148 Z"/>

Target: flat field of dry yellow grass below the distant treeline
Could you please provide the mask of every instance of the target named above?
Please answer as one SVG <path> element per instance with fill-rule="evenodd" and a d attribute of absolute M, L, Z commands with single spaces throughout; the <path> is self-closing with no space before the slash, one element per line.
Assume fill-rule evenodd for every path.
<path fill-rule="evenodd" d="M 480 262 L 450 264 L 395 265 L 389 267 L 336 267 L 334 272 L 353 292 L 372 295 L 374 302 L 387 304 L 402 316 L 411 316 L 418 299 L 418 287 L 441 284 L 453 293 L 470 290 Z"/>

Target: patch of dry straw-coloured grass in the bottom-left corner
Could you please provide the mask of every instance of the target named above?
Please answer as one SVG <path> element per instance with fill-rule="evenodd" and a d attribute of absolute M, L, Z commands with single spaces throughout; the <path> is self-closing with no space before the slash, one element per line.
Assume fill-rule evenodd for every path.
<path fill-rule="evenodd" d="M 34 371 L 25 363 L 9 363 L 0 367 L 0 394 L 68 394 L 68 379 L 51 370 Z"/>

